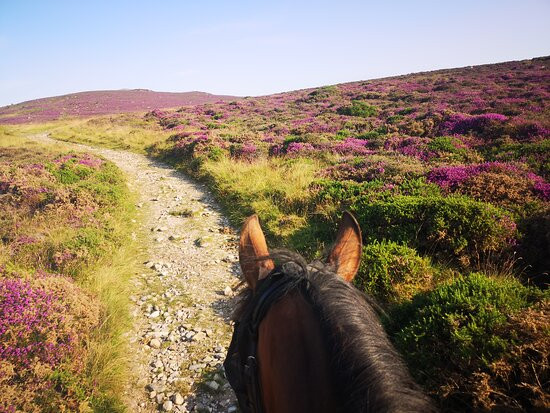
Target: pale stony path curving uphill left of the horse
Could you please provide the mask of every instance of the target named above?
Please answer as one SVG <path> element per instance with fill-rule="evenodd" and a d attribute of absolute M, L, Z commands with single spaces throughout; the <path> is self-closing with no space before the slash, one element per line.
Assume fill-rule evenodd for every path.
<path fill-rule="evenodd" d="M 40 135 L 40 140 L 49 140 Z M 143 268 L 133 279 L 131 412 L 235 412 L 222 362 L 239 285 L 236 234 L 205 187 L 145 156 L 102 155 L 139 198 Z"/>

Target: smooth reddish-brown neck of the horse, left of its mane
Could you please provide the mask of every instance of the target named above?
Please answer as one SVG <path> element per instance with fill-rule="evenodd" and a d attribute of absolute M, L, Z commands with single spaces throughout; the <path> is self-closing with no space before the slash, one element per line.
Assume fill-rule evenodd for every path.
<path fill-rule="evenodd" d="M 298 292 L 276 302 L 260 324 L 258 359 L 266 413 L 339 411 L 320 323 Z"/>

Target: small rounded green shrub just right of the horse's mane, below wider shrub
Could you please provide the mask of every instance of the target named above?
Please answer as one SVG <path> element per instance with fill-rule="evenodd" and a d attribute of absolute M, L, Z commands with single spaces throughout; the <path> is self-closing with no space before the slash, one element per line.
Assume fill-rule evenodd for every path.
<path fill-rule="evenodd" d="M 400 301 L 429 288 L 433 272 L 430 261 L 414 249 L 375 241 L 363 247 L 354 283 L 382 301 Z"/>

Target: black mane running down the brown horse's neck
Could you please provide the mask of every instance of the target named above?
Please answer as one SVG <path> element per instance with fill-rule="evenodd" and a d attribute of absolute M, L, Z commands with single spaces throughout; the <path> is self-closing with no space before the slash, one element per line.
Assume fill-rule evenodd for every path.
<path fill-rule="evenodd" d="M 309 280 L 308 288 L 302 291 L 319 315 L 342 411 L 436 411 L 390 344 L 379 321 L 382 309 L 372 297 L 338 277 L 330 265 L 318 261 L 308 265 L 299 254 L 286 250 L 275 251 L 269 258 L 284 274 Z M 295 291 L 298 285 L 303 283 L 288 283 L 285 294 Z M 234 313 L 235 319 L 250 309 L 251 302 L 248 289 Z"/>

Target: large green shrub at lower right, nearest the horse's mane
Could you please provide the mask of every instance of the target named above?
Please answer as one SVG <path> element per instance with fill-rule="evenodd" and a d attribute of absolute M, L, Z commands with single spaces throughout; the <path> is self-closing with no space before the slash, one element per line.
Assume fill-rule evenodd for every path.
<path fill-rule="evenodd" d="M 509 349 L 513 340 L 498 332 L 506 330 L 511 314 L 543 297 L 537 288 L 517 280 L 474 273 L 395 306 L 386 325 L 413 374 L 422 381 L 437 372 L 468 374 Z"/>

